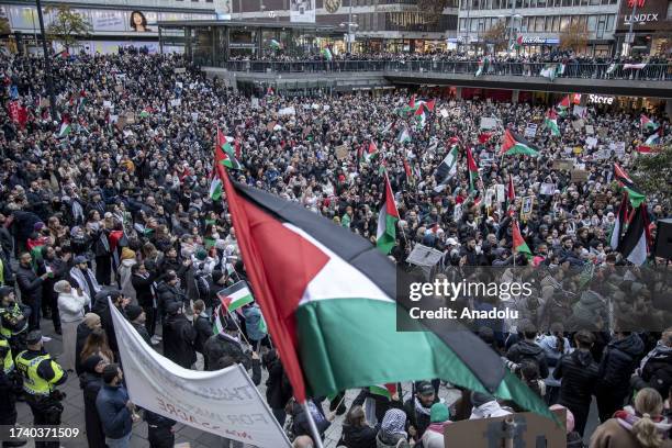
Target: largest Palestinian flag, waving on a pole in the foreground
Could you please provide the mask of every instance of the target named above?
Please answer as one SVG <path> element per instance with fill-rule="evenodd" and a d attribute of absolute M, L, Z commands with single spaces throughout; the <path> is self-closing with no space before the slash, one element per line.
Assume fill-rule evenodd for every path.
<path fill-rule="evenodd" d="M 395 268 L 367 239 L 216 169 L 245 269 L 299 402 L 441 378 L 552 418 L 500 357 L 457 323 L 397 332 Z"/>

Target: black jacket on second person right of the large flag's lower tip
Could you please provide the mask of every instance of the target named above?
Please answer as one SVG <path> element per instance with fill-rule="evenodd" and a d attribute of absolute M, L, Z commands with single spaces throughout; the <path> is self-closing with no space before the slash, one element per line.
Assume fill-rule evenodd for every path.
<path fill-rule="evenodd" d="M 627 394 L 630 377 L 637 367 L 639 357 L 643 351 L 641 338 L 631 333 L 623 339 L 612 340 L 600 362 L 600 381 L 597 390 L 600 393 L 624 396 Z"/>

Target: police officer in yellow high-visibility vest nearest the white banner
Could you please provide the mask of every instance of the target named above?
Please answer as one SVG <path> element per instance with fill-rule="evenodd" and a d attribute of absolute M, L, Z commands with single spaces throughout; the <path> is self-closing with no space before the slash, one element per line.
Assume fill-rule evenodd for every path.
<path fill-rule="evenodd" d="M 23 379 L 25 401 L 33 412 L 33 424 L 60 425 L 65 395 L 55 389 L 68 379 L 68 373 L 52 359 L 42 345 L 42 333 L 34 329 L 26 336 L 27 350 L 16 356 L 16 370 Z M 58 448 L 58 441 L 36 441 L 35 448 Z"/>

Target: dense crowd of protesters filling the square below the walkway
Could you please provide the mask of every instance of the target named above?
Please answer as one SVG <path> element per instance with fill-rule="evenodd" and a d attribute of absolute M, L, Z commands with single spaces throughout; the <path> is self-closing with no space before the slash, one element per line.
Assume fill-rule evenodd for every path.
<path fill-rule="evenodd" d="M 613 165 L 628 170 L 646 157 L 636 152 L 646 138 L 640 115 L 668 131 L 662 111 L 579 107 L 559 120 L 556 136 L 541 124 L 555 104 L 405 90 L 320 98 L 269 92 L 253 100 L 208 79 L 182 56 L 130 53 L 54 59 L 51 104 L 42 64 L 30 56 L 0 59 L 0 354 L 16 366 L 5 362 L 1 388 L 9 396 L 23 377 L 19 389 L 36 424 L 57 423 L 63 405 L 54 392 L 78 374 L 89 446 L 130 446 L 141 416 L 123 385 L 110 296 L 145 340 L 178 365 L 194 368 L 201 354 L 206 370 L 242 363 L 257 385 L 266 376 L 269 407 L 281 424 L 291 417 L 294 445 L 314 445 L 269 335 L 257 329 L 259 307 L 251 303 L 240 316 L 223 316 L 222 332 L 213 333 L 216 292 L 246 279 L 227 203 L 209 194 L 219 130 L 239 157 L 242 169 L 229 171 L 235 180 L 301 203 L 372 244 L 387 172 L 400 213 L 390 255 L 400 267 L 412 268 L 407 257 L 422 244 L 443 254 L 434 277 L 483 266 L 567 271 L 522 305 L 525 322 L 481 327 L 479 335 L 549 406 L 568 410 L 571 446 L 582 446 L 593 396 L 602 425 L 591 446 L 669 444 L 672 329 L 568 332 L 548 317 L 590 321 L 594 295 L 565 294 L 568 284 L 586 266 L 627 265 L 609 246 L 620 203 Z M 421 98 L 436 100 L 424 125 L 408 113 Z M 25 116 L 15 119 L 12 108 L 25 108 Z M 494 125 L 484 127 L 483 117 Z M 530 123 L 538 124 L 531 134 Z M 505 128 L 527 135 L 539 155 L 501 157 Z M 453 144 L 471 148 L 475 188 L 463 155 L 448 181 L 435 176 Z M 572 160 L 586 177 L 571 176 L 558 160 Z M 497 191 L 509 179 L 516 199 L 505 205 Z M 511 226 L 524 197 L 535 198 L 520 222 L 529 259 L 514 250 Z M 651 223 L 669 216 L 670 198 L 647 201 Z M 656 328 L 664 329 L 669 321 L 658 317 Z M 57 361 L 42 345 L 45 318 L 63 338 Z M 453 421 L 517 411 L 468 390 L 449 407 L 438 388 L 438 381 L 418 381 L 406 402 L 362 390 L 347 410 L 340 445 L 443 447 L 444 426 Z M 366 399 L 376 401 L 374 413 Z M 335 399 L 325 413 L 315 397 L 310 408 L 321 433 L 346 411 L 341 403 Z M 15 423 L 12 408 L 12 400 L 0 405 L 0 423 Z M 171 444 L 173 421 L 150 412 L 144 419 L 153 447 L 172 446 L 165 444 Z"/>

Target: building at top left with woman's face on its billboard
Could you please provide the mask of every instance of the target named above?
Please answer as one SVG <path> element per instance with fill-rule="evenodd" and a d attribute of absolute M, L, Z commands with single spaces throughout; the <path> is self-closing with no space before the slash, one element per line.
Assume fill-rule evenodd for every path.
<path fill-rule="evenodd" d="M 41 48 L 35 1 L 7 0 L 2 3 L 0 16 L 8 19 L 16 47 L 27 52 Z M 157 22 L 215 19 L 213 0 L 44 0 L 45 27 L 55 14 L 49 7 L 59 4 L 69 5 L 91 25 L 90 35 L 75 48 L 91 53 L 114 53 L 120 46 L 130 45 L 158 52 Z"/>

